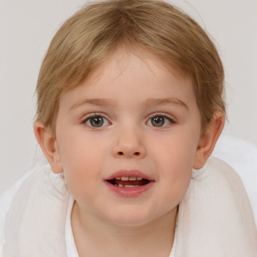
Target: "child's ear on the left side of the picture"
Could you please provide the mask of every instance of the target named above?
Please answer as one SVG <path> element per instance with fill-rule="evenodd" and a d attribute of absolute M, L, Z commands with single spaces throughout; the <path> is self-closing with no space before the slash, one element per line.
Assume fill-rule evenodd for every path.
<path fill-rule="evenodd" d="M 63 171 L 61 156 L 56 139 L 52 136 L 49 130 L 46 129 L 42 121 L 34 122 L 34 133 L 37 141 L 52 167 L 54 173 Z"/>

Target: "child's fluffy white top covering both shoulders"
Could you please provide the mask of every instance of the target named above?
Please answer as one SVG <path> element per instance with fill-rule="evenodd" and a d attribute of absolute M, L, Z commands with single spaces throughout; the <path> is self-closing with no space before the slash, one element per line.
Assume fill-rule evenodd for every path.
<path fill-rule="evenodd" d="M 1 257 L 78 257 L 71 228 L 74 200 L 49 165 L 25 174 L 0 200 Z M 170 257 L 255 257 L 257 232 L 233 169 L 209 158 L 179 204 Z M 176 247 L 176 249 L 175 249 Z"/>

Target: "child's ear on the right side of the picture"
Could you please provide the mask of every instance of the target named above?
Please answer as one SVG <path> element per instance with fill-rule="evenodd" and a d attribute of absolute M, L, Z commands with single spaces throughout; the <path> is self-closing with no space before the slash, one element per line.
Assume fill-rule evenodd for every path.
<path fill-rule="evenodd" d="M 211 155 L 215 144 L 223 130 L 225 115 L 223 111 L 217 110 L 206 127 L 205 132 L 201 135 L 194 159 L 193 168 L 201 169 Z"/>

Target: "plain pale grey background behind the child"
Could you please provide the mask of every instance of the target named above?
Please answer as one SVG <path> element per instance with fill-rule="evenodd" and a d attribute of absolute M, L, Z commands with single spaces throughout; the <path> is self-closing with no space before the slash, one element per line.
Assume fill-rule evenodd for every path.
<path fill-rule="evenodd" d="M 34 91 L 59 25 L 85 1 L 0 0 L 0 195 L 41 156 Z M 257 1 L 173 1 L 212 36 L 226 74 L 224 134 L 257 145 Z"/>

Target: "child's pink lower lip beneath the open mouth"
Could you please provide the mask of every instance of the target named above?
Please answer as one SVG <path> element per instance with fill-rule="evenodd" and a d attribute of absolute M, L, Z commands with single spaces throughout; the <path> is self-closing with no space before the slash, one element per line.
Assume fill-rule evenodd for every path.
<path fill-rule="evenodd" d="M 135 197 L 143 194 L 147 190 L 149 190 L 153 185 L 154 181 L 150 181 L 144 186 L 138 187 L 117 187 L 109 183 L 108 181 L 104 181 L 106 186 L 115 194 L 123 196 L 123 197 Z"/>

